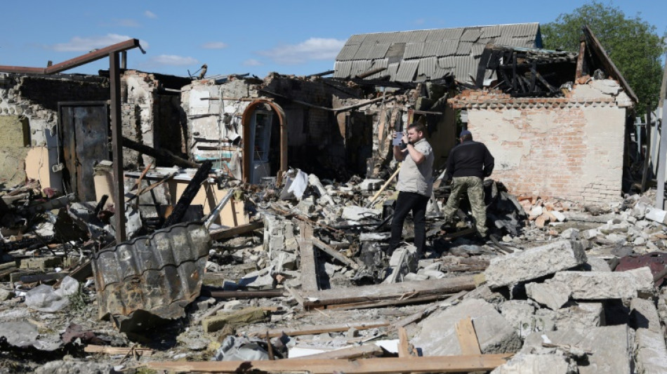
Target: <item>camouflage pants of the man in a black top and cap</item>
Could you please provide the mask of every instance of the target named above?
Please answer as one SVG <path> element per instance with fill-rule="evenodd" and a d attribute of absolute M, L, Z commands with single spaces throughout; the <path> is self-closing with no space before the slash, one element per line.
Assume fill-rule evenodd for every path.
<path fill-rule="evenodd" d="M 451 220 L 458 209 L 458 201 L 464 191 L 468 192 L 470 207 L 473 209 L 473 218 L 475 226 L 480 235 L 487 234 L 487 207 L 484 205 L 484 187 L 482 178 L 477 177 L 456 177 L 451 182 L 451 195 L 447 200 L 447 206 L 444 207 L 444 218 Z"/>

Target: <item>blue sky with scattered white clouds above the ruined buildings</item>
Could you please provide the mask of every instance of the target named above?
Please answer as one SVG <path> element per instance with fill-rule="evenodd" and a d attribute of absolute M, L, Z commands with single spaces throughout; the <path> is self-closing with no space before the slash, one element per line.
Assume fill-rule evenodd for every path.
<path fill-rule="evenodd" d="M 306 75 L 334 67 L 352 34 L 551 22 L 586 1 L 5 1 L 0 65 L 45 67 L 126 39 L 128 68 L 187 76 Z M 603 1 L 667 32 L 667 1 Z M 595 30 L 593 30 L 595 31 Z M 68 72 L 96 74 L 108 60 Z"/>

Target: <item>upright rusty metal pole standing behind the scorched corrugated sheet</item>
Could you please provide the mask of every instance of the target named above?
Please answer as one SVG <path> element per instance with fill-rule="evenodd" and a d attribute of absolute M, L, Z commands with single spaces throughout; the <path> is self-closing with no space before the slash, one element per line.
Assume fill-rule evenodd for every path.
<path fill-rule="evenodd" d="M 121 76 L 118 52 L 109 54 L 111 86 L 111 144 L 114 155 L 114 215 L 116 243 L 126 240 L 125 233 L 125 174 L 123 172 L 123 135 L 121 133 Z"/>

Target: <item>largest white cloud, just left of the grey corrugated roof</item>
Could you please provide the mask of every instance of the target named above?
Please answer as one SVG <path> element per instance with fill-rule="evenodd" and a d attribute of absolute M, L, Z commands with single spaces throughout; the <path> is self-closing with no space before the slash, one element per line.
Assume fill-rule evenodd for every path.
<path fill-rule="evenodd" d="M 277 63 L 293 65 L 308 60 L 333 60 L 343 46 L 345 46 L 344 40 L 310 38 L 299 44 L 277 46 L 258 53 Z"/>

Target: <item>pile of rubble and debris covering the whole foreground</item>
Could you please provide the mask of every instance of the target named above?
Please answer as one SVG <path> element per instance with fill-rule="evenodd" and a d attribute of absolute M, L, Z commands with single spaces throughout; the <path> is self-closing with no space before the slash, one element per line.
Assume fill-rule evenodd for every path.
<path fill-rule="evenodd" d="M 225 186 L 251 222 L 136 215 L 29 184 L 1 196 L 0 371 L 661 373 L 666 212 L 485 183 L 494 240 L 428 208 L 427 251 L 387 253 L 385 180 Z M 141 182 L 136 185 L 141 186 Z M 131 205 L 128 205 L 131 206 Z M 185 217 L 185 215 L 184 215 Z M 188 216 L 190 217 L 190 216 Z M 129 222 L 129 220 L 128 220 Z M 161 223 L 161 224 L 160 224 Z"/>

